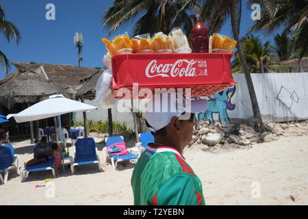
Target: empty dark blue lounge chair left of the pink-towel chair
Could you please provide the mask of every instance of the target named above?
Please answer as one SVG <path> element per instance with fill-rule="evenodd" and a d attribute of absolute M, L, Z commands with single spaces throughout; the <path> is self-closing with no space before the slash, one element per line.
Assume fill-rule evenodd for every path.
<path fill-rule="evenodd" d="M 99 155 L 97 155 L 97 147 L 93 138 L 79 138 L 75 143 L 75 158 L 72 173 L 75 174 L 75 166 L 86 164 L 99 164 L 99 171 L 101 171 L 101 162 Z"/>

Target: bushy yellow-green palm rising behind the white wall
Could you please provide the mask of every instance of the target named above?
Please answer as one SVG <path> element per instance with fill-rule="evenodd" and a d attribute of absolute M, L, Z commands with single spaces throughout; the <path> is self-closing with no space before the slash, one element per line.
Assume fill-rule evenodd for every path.
<path fill-rule="evenodd" d="M 251 73 L 277 73 L 289 71 L 289 68 L 275 64 L 275 62 L 279 60 L 279 57 L 274 55 L 275 48 L 270 44 L 270 41 L 266 41 L 262 44 L 259 38 L 248 36 L 242 38 L 241 43 Z M 235 52 L 235 57 L 235 60 L 232 62 L 233 73 L 242 73 L 243 68 L 238 51 Z"/>

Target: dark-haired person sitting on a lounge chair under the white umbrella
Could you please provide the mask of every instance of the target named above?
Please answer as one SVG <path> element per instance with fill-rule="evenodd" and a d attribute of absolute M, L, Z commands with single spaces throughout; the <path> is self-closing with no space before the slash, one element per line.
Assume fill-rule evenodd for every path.
<path fill-rule="evenodd" d="M 43 137 L 40 140 L 40 146 L 38 146 L 36 151 L 34 151 L 34 159 L 30 159 L 29 162 L 25 163 L 25 168 L 36 164 L 46 163 L 52 155 L 53 151 L 51 147 L 47 145 L 47 139 Z"/>

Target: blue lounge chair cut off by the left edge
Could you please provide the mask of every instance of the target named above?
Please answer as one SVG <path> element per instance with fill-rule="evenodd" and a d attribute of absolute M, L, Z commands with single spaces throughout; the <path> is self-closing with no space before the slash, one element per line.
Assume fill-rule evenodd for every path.
<path fill-rule="evenodd" d="M 15 165 L 17 162 L 17 166 Z M 5 144 L 0 146 L 0 181 L 6 183 L 8 181 L 9 169 L 15 168 L 18 171 L 18 155 L 15 155 L 14 146 Z M 4 172 L 4 179 L 1 175 Z"/>

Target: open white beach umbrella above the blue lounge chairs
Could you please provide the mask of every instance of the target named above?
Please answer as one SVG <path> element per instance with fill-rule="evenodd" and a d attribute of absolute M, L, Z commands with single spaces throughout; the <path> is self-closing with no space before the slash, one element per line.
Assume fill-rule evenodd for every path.
<path fill-rule="evenodd" d="M 62 94 L 49 96 L 49 99 L 31 105 L 18 114 L 8 114 L 7 118 L 14 117 L 17 123 L 25 123 L 53 116 L 60 116 L 69 112 L 88 112 L 97 110 L 97 107 L 73 101 Z"/>

